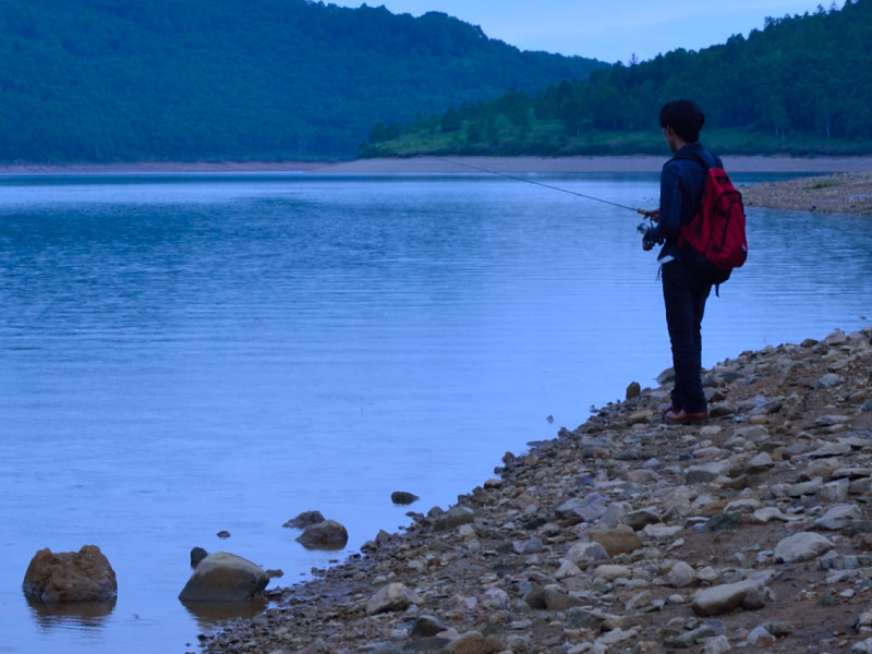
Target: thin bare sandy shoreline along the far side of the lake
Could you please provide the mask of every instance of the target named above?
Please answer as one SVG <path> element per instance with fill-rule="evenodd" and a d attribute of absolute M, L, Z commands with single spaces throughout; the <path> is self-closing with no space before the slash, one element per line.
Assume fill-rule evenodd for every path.
<path fill-rule="evenodd" d="M 410 157 L 351 161 L 226 161 L 133 164 L 11 164 L 0 174 L 234 173 L 306 172 L 318 174 L 474 173 L 481 172 L 658 172 L 663 156 L 602 157 Z M 872 171 L 872 157 L 725 156 L 730 172 L 833 173 Z"/>

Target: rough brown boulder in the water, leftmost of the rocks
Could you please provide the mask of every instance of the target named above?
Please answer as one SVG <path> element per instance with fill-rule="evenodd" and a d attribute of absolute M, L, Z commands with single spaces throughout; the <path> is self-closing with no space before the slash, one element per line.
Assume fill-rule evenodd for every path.
<path fill-rule="evenodd" d="M 58 554 L 45 548 L 31 559 L 22 590 L 46 604 L 107 602 L 118 595 L 118 580 L 96 545 Z"/>

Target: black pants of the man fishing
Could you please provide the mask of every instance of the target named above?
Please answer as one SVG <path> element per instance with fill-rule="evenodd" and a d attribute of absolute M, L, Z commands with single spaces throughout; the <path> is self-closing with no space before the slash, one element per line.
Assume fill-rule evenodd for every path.
<path fill-rule="evenodd" d="M 664 264 L 661 278 L 675 367 L 673 407 L 688 413 L 701 413 L 707 410 L 700 376 L 702 315 L 712 284 L 701 281 L 680 261 Z"/>

